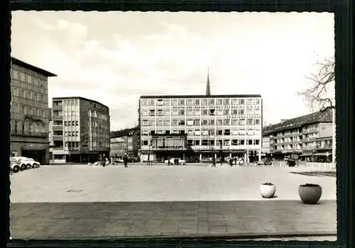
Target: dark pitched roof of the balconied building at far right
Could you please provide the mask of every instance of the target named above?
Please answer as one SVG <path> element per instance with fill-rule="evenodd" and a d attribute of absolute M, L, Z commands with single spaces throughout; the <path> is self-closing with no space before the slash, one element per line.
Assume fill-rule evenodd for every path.
<path fill-rule="evenodd" d="M 300 128 L 302 125 L 312 124 L 312 123 L 331 123 L 332 122 L 332 109 L 324 112 L 310 113 L 309 115 L 302 115 L 297 118 L 283 120 L 283 122 L 269 125 L 263 128 L 263 135 L 268 135 L 270 133 L 288 130 L 293 128 Z"/>

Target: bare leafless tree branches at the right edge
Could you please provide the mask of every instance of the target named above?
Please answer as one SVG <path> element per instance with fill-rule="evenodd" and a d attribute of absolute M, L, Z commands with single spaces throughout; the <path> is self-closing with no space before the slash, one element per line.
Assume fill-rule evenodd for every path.
<path fill-rule="evenodd" d="M 317 62 L 318 72 L 310 74 L 307 77 L 312 83 L 310 88 L 300 91 L 298 94 L 304 96 L 305 100 L 310 103 L 310 108 L 315 108 L 321 112 L 335 108 L 334 96 L 329 96 L 329 89 L 334 89 L 334 57 L 327 58 L 323 62 Z"/>

